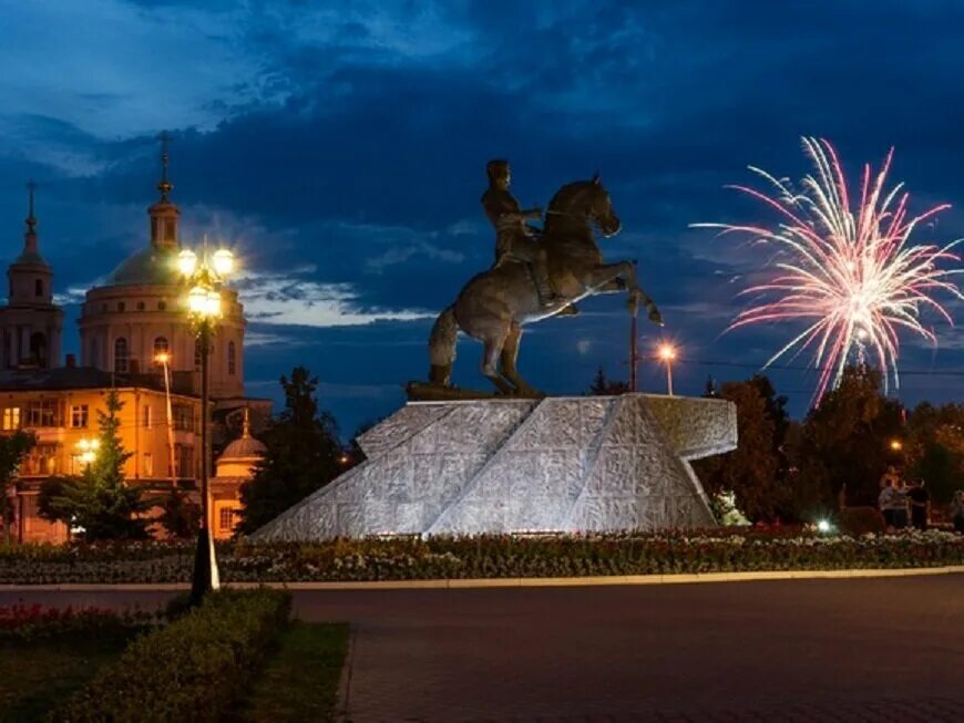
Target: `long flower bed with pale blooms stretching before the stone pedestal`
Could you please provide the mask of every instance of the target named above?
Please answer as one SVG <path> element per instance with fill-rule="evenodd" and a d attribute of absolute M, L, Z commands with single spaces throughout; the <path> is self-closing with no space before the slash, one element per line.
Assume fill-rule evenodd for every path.
<path fill-rule="evenodd" d="M 964 536 L 742 529 L 239 541 L 217 551 L 226 582 L 465 579 L 942 567 L 964 565 Z M 0 547 L 0 583 L 185 582 L 193 564 L 191 543 Z"/>

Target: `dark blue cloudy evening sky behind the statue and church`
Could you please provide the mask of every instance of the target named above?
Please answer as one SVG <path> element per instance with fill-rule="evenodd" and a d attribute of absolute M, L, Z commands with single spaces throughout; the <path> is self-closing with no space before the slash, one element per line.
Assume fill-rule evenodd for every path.
<path fill-rule="evenodd" d="M 964 204 L 958 2 L 0 0 L 0 17 L 3 264 L 35 178 L 42 249 L 75 303 L 147 242 L 167 128 L 184 239 L 225 238 L 247 266 L 249 392 L 277 396 L 277 378 L 306 364 L 345 433 L 402 403 L 431 318 L 489 264 L 492 156 L 513 162 L 523 204 L 602 173 L 624 223 L 605 252 L 639 259 L 681 348 L 683 393 L 752 373 L 793 331 L 720 337 L 761 259 L 688 228 L 768 220 L 722 189 L 749 180 L 748 164 L 800 177 L 801 135 L 830 138 L 849 168 L 894 145 L 913 210 Z M 964 235 L 964 215 L 935 230 Z M 523 341 L 522 372 L 548 392 L 583 391 L 601 364 L 627 375 L 623 299 L 582 308 Z M 643 349 L 660 338 L 640 331 Z M 905 338 L 904 369 L 961 371 L 964 334 L 937 332 L 937 351 Z M 460 344 L 458 382 L 484 384 L 478 358 Z M 802 413 L 814 375 L 772 376 Z M 640 379 L 663 390 L 654 364 Z M 906 374 L 901 397 L 964 389 Z"/>

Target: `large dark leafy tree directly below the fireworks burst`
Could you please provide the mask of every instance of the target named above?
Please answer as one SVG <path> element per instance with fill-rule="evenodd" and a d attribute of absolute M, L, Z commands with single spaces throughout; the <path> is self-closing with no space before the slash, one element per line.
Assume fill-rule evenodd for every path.
<path fill-rule="evenodd" d="M 840 385 L 807 415 L 797 450 L 799 474 L 849 505 L 875 505 L 890 458 L 890 440 L 903 433 L 899 402 L 880 391 L 881 375 L 868 366 L 844 370 Z"/>

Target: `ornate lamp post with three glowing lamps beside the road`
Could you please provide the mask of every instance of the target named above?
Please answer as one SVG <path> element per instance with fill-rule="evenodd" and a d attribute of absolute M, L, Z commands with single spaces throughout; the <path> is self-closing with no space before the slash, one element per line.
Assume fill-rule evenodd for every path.
<path fill-rule="evenodd" d="M 227 249 L 218 249 L 208 256 L 205 245 L 199 257 L 188 249 L 181 251 L 177 266 L 188 289 L 187 312 L 194 324 L 201 352 L 201 529 L 194 558 L 194 578 L 191 581 L 191 601 L 199 605 L 205 592 L 221 587 L 214 538 L 211 534 L 208 355 L 214 326 L 222 314 L 221 288 L 234 270 L 234 255 Z"/>

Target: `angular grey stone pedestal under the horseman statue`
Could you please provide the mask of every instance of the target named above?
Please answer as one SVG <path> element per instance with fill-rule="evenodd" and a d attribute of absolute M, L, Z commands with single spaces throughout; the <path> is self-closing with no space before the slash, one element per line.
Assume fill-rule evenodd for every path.
<path fill-rule="evenodd" d="M 652 394 L 410 402 L 359 443 L 362 464 L 255 537 L 709 526 L 689 461 L 735 448 L 737 415 Z"/>

